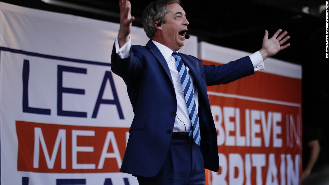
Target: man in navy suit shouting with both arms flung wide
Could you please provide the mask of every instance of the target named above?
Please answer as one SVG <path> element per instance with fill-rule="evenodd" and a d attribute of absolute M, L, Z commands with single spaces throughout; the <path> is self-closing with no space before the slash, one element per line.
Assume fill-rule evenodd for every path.
<path fill-rule="evenodd" d="M 135 114 L 120 171 L 137 176 L 139 184 L 204 184 L 204 168 L 219 169 L 207 86 L 264 69 L 263 60 L 287 48 L 290 44 L 280 45 L 289 36 L 284 38 L 287 32 L 279 35 L 280 29 L 268 39 L 266 31 L 261 50 L 227 64 L 207 66 L 177 52 L 184 46 L 189 25 L 180 0 L 158 0 L 145 9 L 142 23 L 150 38 L 146 46 L 131 46 L 131 4 L 127 0 L 119 4 L 112 71 L 126 83 Z"/>

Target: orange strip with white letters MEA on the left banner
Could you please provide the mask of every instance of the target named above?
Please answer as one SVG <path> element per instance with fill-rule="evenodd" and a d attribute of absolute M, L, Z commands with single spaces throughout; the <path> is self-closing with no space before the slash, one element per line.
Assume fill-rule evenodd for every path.
<path fill-rule="evenodd" d="M 39 173 L 119 172 L 128 130 L 16 121 L 17 170 Z"/>

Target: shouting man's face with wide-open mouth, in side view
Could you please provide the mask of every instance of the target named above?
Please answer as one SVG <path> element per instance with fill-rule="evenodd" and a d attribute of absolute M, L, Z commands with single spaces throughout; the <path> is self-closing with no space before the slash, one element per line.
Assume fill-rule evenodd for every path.
<path fill-rule="evenodd" d="M 185 33 L 189 21 L 186 13 L 178 3 L 167 5 L 168 13 L 164 16 L 166 23 L 162 24 L 161 36 L 163 44 L 173 51 L 178 51 L 184 46 Z"/>

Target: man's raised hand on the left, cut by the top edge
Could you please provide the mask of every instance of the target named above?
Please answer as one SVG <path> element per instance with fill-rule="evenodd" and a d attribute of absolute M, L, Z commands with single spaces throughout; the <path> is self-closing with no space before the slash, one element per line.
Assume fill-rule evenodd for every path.
<path fill-rule="evenodd" d="M 135 20 L 134 16 L 131 16 L 131 4 L 127 0 L 119 0 L 120 5 L 120 29 L 118 34 L 118 42 L 120 48 L 128 42 L 129 34 L 131 32 L 131 24 Z"/>

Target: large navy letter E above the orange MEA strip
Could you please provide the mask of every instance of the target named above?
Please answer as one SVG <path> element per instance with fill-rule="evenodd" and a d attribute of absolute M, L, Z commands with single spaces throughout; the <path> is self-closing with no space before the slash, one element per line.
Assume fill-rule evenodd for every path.
<path fill-rule="evenodd" d="M 85 89 L 73 89 L 63 87 L 63 72 L 87 74 L 87 69 L 78 67 L 57 66 L 57 115 L 87 118 L 87 112 L 75 112 L 63 110 L 63 93 L 85 94 Z"/>

